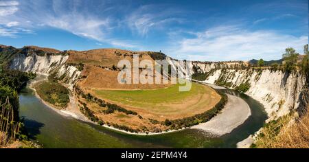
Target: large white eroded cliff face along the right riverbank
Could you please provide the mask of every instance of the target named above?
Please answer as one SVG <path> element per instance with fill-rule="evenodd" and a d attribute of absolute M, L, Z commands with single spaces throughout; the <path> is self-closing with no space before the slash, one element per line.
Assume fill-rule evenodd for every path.
<path fill-rule="evenodd" d="M 299 111 L 304 104 L 301 102 L 304 102 L 302 97 L 306 93 L 306 78 L 300 73 L 236 68 L 242 65 L 225 65 L 222 68 L 222 63 L 193 64 L 207 73 L 208 77 L 203 80 L 205 83 L 231 89 L 236 89 L 240 84 L 246 85 L 248 89 L 245 93 L 264 105 L 269 117 L 267 121 L 286 115 L 290 110 Z"/>

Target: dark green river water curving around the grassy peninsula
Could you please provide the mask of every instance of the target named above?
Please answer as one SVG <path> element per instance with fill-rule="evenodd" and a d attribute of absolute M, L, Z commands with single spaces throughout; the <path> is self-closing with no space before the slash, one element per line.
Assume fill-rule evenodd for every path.
<path fill-rule="evenodd" d="M 229 135 L 219 138 L 191 129 L 164 135 L 127 135 L 63 117 L 45 106 L 28 88 L 20 95 L 20 115 L 30 137 L 38 140 L 44 148 L 235 148 L 238 141 L 263 125 L 266 114 L 262 105 L 251 97 L 231 90 L 220 91 L 242 97 L 249 104 L 252 115 Z"/>

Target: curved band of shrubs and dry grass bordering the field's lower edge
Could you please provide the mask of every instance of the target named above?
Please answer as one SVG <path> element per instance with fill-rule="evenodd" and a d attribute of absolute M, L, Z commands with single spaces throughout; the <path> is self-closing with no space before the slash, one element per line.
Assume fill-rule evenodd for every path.
<path fill-rule="evenodd" d="M 82 89 L 80 89 L 80 87 L 77 85 L 74 86 L 73 89 L 74 92 L 76 92 L 76 94 L 80 96 L 78 97 L 79 98 L 78 102 L 80 104 L 80 111 L 85 116 L 87 116 L 88 119 L 100 125 L 112 126 L 113 128 L 117 128 L 119 130 L 124 130 L 127 132 L 149 133 L 149 132 L 164 132 L 168 130 L 179 130 L 181 128 L 188 128 L 190 126 L 194 126 L 196 124 L 209 121 L 209 119 L 211 119 L 211 117 L 214 117 L 220 110 L 222 110 L 222 108 L 227 103 L 227 95 L 225 95 L 224 93 L 220 93 L 219 95 L 220 100 L 214 105 L 213 108 L 209 108 L 207 111 L 204 111 L 203 113 L 198 113 L 190 117 L 179 117 L 178 119 L 165 118 L 159 121 L 157 119 L 149 118 L 149 113 L 146 114 L 146 116 L 148 117 L 142 117 L 141 115 L 139 115 L 139 113 L 135 111 L 127 110 L 126 108 L 118 106 L 117 104 L 111 104 L 109 102 L 101 100 L 98 97 L 91 95 L 90 93 L 84 93 Z M 152 90 L 152 92 L 154 91 Z M 153 98 L 150 100 L 153 100 Z M 119 113 L 123 114 L 121 115 Z M 123 119 L 123 117 L 120 117 L 120 115 L 121 116 L 127 115 L 125 117 L 126 119 L 133 119 L 132 117 L 135 117 L 135 119 L 133 119 L 131 122 L 126 122 L 126 124 L 122 124 L 122 122 L 119 122 L 122 121 Z M 117 119 L 114 119 L 113 116 L 115 116 L 115 118 Z M 135 126 L 135 124 L 143 124 L 143 125 Z"/>

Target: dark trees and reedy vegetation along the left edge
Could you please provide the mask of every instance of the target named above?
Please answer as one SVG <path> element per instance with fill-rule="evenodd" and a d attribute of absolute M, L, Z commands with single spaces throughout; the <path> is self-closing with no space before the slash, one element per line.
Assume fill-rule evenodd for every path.
<path fill-rule="evenodd" d="M 36 148 L 19 118 L 19 92 L 35 73 L 8 69 L 12 47 L 0 48 L 0 148 Z"/>

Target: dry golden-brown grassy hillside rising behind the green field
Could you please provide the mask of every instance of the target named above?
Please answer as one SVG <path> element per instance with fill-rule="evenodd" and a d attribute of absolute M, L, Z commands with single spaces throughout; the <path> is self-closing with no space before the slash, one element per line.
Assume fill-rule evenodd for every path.
<path fill-rule="evenodd" d="M 147 51 L 93 49 L 89 51 L 68 51 L 68 54 L 67 63 L 83 63 L 85 65 L 82 76 L 87 76 L 87 78 L 80 82 L 80 86 L 88 89 L 161 89 L 170 86 L 170 84 L 119 84 L 117 80 L 119 69 L 108 69 L 113 66 L 117 67 L 119 60 L 123 59 L 128 60 L 133 66 L 133 54 L 139 55 L 139 62 L 150 60 L 152 65 L 155 65 L 155 60 L 148 55 Z M 155 71 L 150 76 L 153 77 L 154 75 Z"/>

